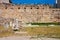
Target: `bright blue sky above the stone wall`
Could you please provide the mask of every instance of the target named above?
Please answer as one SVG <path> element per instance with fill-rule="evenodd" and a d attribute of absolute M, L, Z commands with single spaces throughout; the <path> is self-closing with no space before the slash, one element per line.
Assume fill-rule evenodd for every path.
<path fill-rule="evenodd" d="M 11 0 L 14 4 L 54 4 L 55 0 Z"/>

